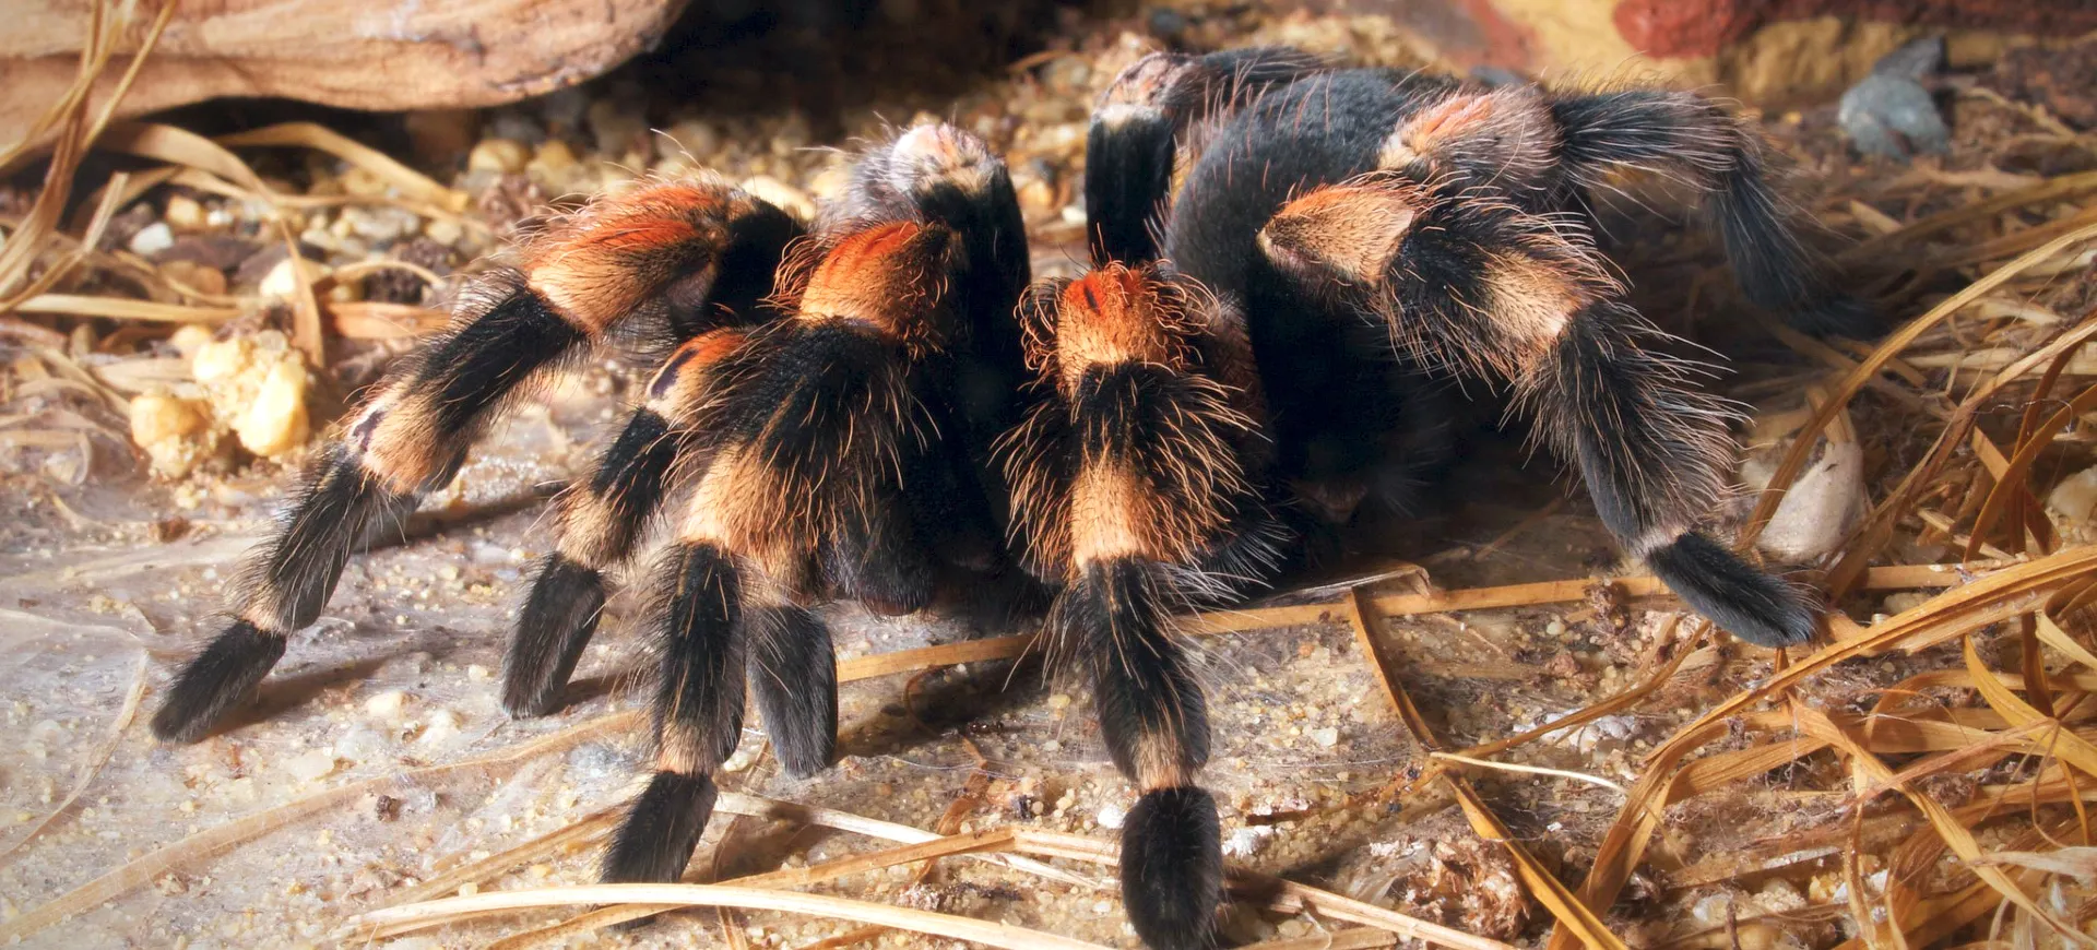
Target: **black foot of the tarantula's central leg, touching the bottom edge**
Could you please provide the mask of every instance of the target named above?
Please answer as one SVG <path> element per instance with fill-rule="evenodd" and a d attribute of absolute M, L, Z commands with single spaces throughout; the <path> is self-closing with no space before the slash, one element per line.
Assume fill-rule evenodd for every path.
<path fill-rule="evenodd" d="M 1122 826 L 1122 904 L 1155 950 L 1216 946 L 1223 904 L 1223 833 L 1202 789 L 1160 789 L 1137 799 Z"/>

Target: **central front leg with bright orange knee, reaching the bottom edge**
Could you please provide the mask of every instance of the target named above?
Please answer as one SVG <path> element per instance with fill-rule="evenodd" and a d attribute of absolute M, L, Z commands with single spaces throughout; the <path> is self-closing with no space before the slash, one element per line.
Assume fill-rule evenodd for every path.
<path fill-rule="evenodd" d="M 1044 398 L 1004 442 L 1030 568 L 1057 570 L 1051 652 L 1093 684 L 1101 738 L 1141 793 L 1122 828 L 1122 898 L 1153 948 L 1214 940 L 1223 900 L 1208 700 L 1170 619 L 1271 566 L 1246 474 L 1241 390 L 1208 377 L 1210 298 L 1151 266 L 1053 281 L 1021 310 Z"/>

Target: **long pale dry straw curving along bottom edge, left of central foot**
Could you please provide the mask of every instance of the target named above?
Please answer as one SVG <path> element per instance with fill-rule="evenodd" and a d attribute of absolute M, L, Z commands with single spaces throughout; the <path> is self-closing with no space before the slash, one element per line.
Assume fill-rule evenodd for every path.
<path fill-rule="evenodd" d="M 541 887 L 531 891 L 476 893 L 470 898 L 432 900 L 359 916 L 367 937 L 390 937 L 417 929 L 440 927 L 461 914 L 489 910 L 556 908 L 572 904 L 654 904 L 663 908 L 711 906 L 744 910 L 782 910 L 788 914 L 830 916 L 839 921 L 874 923 L 900 931 L 935 937 L 969 940 L 1007 950 L 1099 950 L 1099 944 L 1057 937 L 1053 933 L 977 921 L 973 916 L 933 914 L 929 910 L 893 908 L 864 900 L 828 898 L 820 893 L 763 891 L 732 885 L 583 885 Z"/>

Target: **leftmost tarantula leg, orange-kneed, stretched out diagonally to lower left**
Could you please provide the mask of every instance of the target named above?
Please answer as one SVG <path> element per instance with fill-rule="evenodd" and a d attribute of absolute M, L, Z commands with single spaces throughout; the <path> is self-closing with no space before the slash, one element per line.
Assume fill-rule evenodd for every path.
<path fill-rule="evenodd" d="M 717 287 L 742 296 L 744 277 L 723 275 L 721 256 L 791 231 L 782 212 L 736 191 L 654 185 L 606 197 L 522 247 L 520 266 L 480 281 L 453 327 L 405 359 L 308 472 L 283 528 L 243 573 L 233 627 L 176 675 L 153 734 L 203 738 L 283 656 L 285 638 L 319 619 L 350 549 L 449 482 L 526 382 L 635 310 L 696 312 Z"/>

